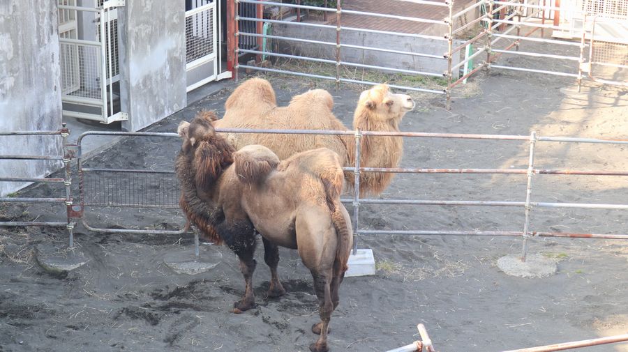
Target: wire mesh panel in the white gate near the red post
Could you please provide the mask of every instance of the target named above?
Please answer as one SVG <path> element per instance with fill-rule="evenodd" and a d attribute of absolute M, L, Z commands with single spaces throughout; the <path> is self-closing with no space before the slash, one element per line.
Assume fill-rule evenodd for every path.
<path fill-rule="evenodd" d="M 213 4 L 202 6 L 186 14 L 186 63 L 213 57 L 215 50 L 215 10 Z"/>

